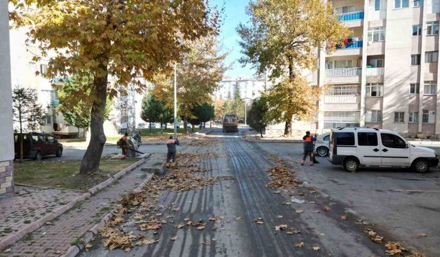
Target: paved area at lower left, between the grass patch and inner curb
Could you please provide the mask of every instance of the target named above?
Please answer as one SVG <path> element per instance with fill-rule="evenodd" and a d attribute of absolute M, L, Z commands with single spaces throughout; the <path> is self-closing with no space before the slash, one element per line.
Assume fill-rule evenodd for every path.
<path fill-rule="evenodd" d="M 0 241 L 83 193 L 57 188 L 16 186 L 16 195 L 0 198 Z"/>

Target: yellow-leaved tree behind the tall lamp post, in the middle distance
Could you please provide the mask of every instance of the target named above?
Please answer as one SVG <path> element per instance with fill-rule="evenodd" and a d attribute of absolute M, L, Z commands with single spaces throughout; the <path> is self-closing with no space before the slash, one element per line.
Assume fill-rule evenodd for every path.
<path fill-rule="evenodd" d="M 211 96 L 219 86 L 223 73 L 227 69 L 220 54 L 221 47 L 214 34 L 187 40 L 184 45 L 190 51 L 184 54 L 182 62 L 177 63 L 177 103 L 179 116 L 184 121 L 184 133 L 188 119 L 193 118 L 191 108 L 210 103 Z M 158 99 L 173 103 L 173 73 L 161 73 L 155 77 L 154 92 Z"/>

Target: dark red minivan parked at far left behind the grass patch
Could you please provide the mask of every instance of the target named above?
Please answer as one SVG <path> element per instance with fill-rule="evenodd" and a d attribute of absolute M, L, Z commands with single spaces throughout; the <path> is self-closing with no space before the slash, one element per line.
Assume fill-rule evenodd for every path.
<path fill-rule="evenodd" d="M 14 133 L 15 158 L 20 158 L 20 135 Z M 51 134 L 28 133 L 23 136 L 23 158 L 41 160 L 43 156 L 63 156 L 63 145 Z"/>

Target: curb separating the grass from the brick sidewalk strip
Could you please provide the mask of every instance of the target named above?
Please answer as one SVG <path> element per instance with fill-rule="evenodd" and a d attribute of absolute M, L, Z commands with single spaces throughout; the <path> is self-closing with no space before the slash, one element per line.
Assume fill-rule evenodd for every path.
<path fill-rule="evenodd" d="M 120 177 L 125 175 L 127 172 L 144 164 L 144 162 L 146 162 L 146 158 L 148 156 L 149 156 L 149 154 L 147 156 L 145 156 L 145 158 L 138 160 L 137 162 L 131 164 L 129 167 L 126 167 L 125 169 L 122 169 L 122 171 L 116 173 L 115 175 L 118 175 L 118 177 L 115 177 L 115 175 L 113 175 L 111 178 L 109 178 L 109 179 L 101 182 L 100 184 L 90 188 L 87 193 L 84 193 L 83 195 L 75 197 L 74 199 L 72 199 L 72 201 L 69 201 L 68 204 L 65 204 L 63 206 L 56 208 L 55 210 L 52 210 L 52 212 L 45 215 L 44 217 L 41 217 L 40 219 L 38 219 L 28 225 L 25 225 L 23 228 L 21 228 L 21 230 L 14 232 L 13 234 L 10 234 L 9 236 L 5 236 L 5 238 L 1 239 L 1 241 L 0 241 L 0 250 L 5 249 L 9 245 L 17 243 L 17 241 L 19 241 L 21 238 L 23 238 L 23 236 L 25 236 L 26 234 L 29 234 L 31 232 L 34 232 L 35 230 L 38 230 L 47 221 L 52 221 L 56 217 L 59 217 L 60 215 L 62 215 L 67 210 L 72 209 L 78 201 L 83 201 L 83 200 L 87 199 L 91 195 L 94 195 L 96 192 L 98 192 L 100 189 L 105 188 L 106 186 L 109 186 L 111 183 L 118 180 Z M 71 249 L 71 248 L 72 247 L 70 247 L 69 249 Z"/>

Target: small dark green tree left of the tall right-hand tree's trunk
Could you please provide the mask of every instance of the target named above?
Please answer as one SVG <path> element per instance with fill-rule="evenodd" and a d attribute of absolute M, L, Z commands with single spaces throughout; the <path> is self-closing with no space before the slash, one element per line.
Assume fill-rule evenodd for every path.
<path fill-rule="evenodd" d="M 248 124 L 256 132 L 259 132 L 263 137 L 263 131 L 269 125 L 267 121 L 267 111 L 269 110 L 269 103 L 267 97 L 262 95 L 252 102 L 251 108 L 248 110 Z"/>

